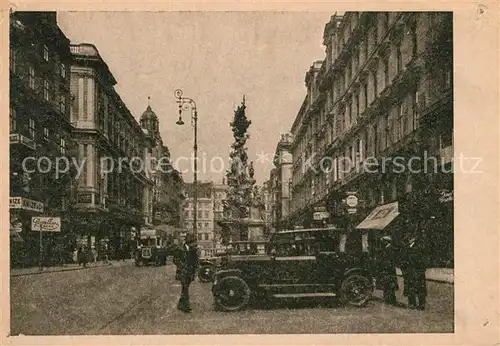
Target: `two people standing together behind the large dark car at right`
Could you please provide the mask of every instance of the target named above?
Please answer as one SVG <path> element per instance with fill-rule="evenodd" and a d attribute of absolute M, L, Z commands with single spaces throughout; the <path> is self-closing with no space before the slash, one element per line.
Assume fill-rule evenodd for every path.
<path fill-rule="evenodd" d="M 408 306 L 424 310 L 427 297 L 427 264 L 422 236 L 410 233 L 401 244 L 395 244 L 390 236 L 384 236 L 381 240 L 382 246 L 376 254 L 375 271 L 377 288 L 383 290 L 384 301 L 391 305 L 398 304 L 396 268 L 399 267 L 403 274 L 403 295 L 408 298 Z"/>

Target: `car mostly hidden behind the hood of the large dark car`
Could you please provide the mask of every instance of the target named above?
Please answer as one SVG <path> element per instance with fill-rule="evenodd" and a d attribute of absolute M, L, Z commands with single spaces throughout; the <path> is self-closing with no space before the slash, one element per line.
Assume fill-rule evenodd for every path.
<path fill-rule="evenodd" d="M 265 248 L 268 241 L 238 241 L 231 242 L 229 249 L 223 253 L 218 253 L 209 258 L 203 258 L 199 261 L 198 279 L 201 282 L 213 281 L 217 268 L 224 263 L 230 256 L 234 255 L 256 255 L 265 254 Z"/>

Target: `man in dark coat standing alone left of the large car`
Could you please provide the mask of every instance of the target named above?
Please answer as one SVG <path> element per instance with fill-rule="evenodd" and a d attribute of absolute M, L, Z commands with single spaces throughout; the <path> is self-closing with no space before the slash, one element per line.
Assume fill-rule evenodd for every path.
<path fill-rule="evenodd" d="M 184 312 L 191 312 L 189 302 L 189 285 L 194 281 L 196 269 L 198 267 L 198 249 L 196 238 L 188 234 L 185 243 L 174 255 L 174 264 L 177 266 L 175 279 L 180 281 L 182 289 L 177 309 Z"/>

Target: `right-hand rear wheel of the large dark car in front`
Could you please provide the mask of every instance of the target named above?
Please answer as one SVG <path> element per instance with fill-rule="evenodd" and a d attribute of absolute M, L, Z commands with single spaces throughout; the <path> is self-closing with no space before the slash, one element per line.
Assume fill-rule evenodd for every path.
<path fill-rule="evenodd" d="M 371 299 L 373 285 L 371 281 L 363 275 L 353 274 L 342 281 L 340 297 L 344 304 L 362 307 Z"/>

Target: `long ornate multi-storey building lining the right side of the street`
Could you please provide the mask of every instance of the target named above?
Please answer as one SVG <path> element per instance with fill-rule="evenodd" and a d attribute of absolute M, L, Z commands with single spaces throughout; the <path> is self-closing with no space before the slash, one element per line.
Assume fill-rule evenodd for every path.
<path fill-rule="evenodd" d="M 434 257 L 450 257 L 452 210 L 437 196 L 453 189 L 452 174 L 441 172 L 453 152 L 452 37 L 450 13 L 332 16 L 324 32 L 326 58 L 308 73 L 308 97 L 292 127 L 293 221 L 308 224 L 312 209 L 326 205 L 329 222 L 344 223 L 348 191 L 361 201 L 353 222 L 391 202 L 402 212 L 413 206 L 414 213 L 417 205 L 439 205 L 447 209 L 438 212 L 440 229 L 426 237 L 435 244 Z M 401 171 L 387 160 L 408 164 L 425 155 L 441 161 L 438 172 L 423 172 L 424 163 L 413 167 L 417 173 L 408 165 Z"/>

